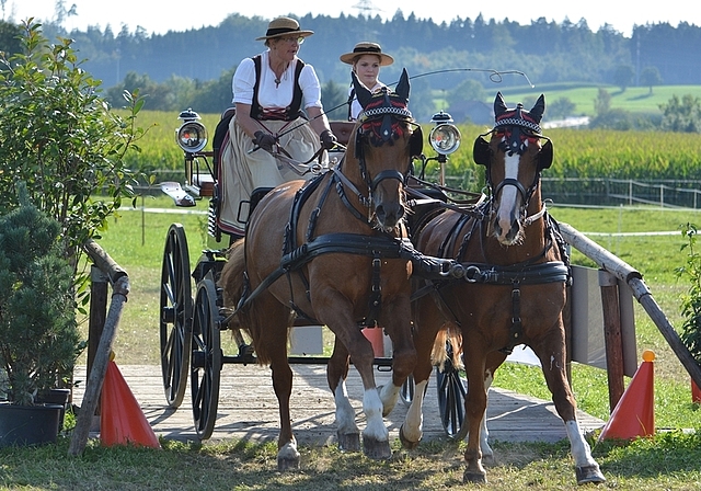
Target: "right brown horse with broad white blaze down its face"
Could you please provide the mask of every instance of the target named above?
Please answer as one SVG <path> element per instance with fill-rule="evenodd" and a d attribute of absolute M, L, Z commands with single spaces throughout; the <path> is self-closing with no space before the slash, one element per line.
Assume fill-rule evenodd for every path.
<path fill-rule="evenodd" d="M 476 139 L 473 156 L 486 168 L 490 199 L 472 213 L 446 210 L 413 238 L 424 254 L 460 262 L 466 275 L 426 282 L 428 288 L 422 289 L 430 295 L 413 304 L 416 397 L 400 436 L 407 447 L 421 439 L 424 389 L 437 363 L 432 349 L 445 351 L 446 339 L 452 339 L 468 378 L 460 432 L 461 437 L 469 435 L 466 482 L 486 481 L 482 459 L 493 458 L 486 441 L 486 391 L 496 368 L 518 344 L 530 346 L 540 358 L 570 438 L 577 481 L 605 481 L 577 424 L 565 373 L 563 308 L 570 271 L 564 241 L 541 202 L 540 174 L 553 157 L 552 142 L 540 130 L 544 105 L 541 95 L 530 111 L 521 104 L 509 110 L 502 94 L 496 95 L 496 124 Z"/>

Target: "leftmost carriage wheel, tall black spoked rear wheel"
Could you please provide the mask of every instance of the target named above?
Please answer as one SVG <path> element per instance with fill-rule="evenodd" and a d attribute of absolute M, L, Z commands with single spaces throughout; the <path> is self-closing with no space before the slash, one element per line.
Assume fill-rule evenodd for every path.
<path fill-rule="evenodd" d="M 183 402 L 192 346 L 192 279 L 185 229 L 168 230 L 161 270 L 161 372 L 165 400 L 171 408 Z"/>

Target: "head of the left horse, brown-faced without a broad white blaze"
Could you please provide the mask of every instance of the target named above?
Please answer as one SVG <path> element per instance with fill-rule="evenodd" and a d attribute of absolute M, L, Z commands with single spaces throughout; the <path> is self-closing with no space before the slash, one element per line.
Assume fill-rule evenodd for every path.
<path fill-rule="evenodd" d="M 378 92 L 370 92 L 355 73 L 352 77 L 363 112 L 349 147 L 358 167 L 348 172 L 358 172 L 357 179 L 367 186 L 366 204 L 375 226 L 391 231 L 406 213 L 404 183 L 423 148 L 421 126 L 407 110 L 409 76 L 404 69 L 395 91 Z"/>

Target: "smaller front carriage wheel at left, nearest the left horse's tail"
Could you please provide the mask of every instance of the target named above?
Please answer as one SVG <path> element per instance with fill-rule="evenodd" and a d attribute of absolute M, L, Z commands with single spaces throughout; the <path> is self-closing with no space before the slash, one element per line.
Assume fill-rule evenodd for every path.
<path fill-rule="evenodd" d="M 200 439 L 211 436 L 219 407 L 221 340 L 217 289 L 211 274 L 197 285 L 193 318 L 193 358 L 189 387 L 195 431 Z"/>

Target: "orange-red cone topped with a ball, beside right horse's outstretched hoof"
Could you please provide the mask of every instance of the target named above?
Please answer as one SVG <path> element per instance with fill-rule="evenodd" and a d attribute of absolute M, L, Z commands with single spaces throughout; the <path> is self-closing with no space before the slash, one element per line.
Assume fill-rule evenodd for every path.
<path fill-rule="evenodd" d="M 654 359 L 653 351 L 643 352 L 643 363 L 616 404 L 599 442 L 605 438 L 633 439 L 655 433 Z"/>

